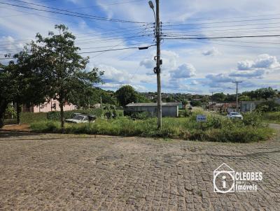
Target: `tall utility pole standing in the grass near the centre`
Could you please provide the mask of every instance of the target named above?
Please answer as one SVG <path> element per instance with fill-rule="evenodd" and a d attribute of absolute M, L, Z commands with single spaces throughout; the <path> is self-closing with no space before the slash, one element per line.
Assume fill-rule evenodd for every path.
<path fill-rule="evenodd" d="M 158 129 L 162 129 L 162 87 L 160 82 L 160 66 L 162 60 L 160 59 L 160 0 L 155 0 L 156 4 L 156 38 L 157 38 L 157 66 L 155 72 L 157 73 L 158 83 Z"/>

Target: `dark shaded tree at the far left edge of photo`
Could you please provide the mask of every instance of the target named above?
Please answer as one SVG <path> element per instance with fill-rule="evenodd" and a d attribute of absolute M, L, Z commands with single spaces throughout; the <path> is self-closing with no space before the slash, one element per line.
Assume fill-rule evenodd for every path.
<path fill-rule="evenodd" d="M 3 126 L 3 115 L 8 104 L 13 103 L 16 108 L 18 124 L 20 124 L 20 112 L 22 103 L 43 103 L 45 89 L 41 86 L 41 77 L 32 74 L 29 66 L 30 55 L 26 54 L 27 48 L 15 54 L 16 61 L 10 61 L 7 65 L 0 64 L 0 126 Z M 37 76 L 37 77 L 36 77 Z"/>

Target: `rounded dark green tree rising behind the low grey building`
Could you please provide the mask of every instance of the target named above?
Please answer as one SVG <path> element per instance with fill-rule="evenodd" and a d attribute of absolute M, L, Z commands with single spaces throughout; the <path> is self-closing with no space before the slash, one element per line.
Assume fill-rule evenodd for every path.
<path fill-rule="evenodd" d="M 116 97 L 120 106 L 126 106 L 128 103 L 137 102 L 137 92 L 130 85 L 120 87 L 116 92 Z"/>

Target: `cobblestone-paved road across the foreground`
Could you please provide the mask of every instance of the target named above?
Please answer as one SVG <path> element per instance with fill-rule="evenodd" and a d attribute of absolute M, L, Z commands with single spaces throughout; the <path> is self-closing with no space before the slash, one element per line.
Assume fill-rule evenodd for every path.
<path fill-rule="evenodd" d="M 0 210 L 279 210 L 280 141 L 226 144 L 0 131 Z M 262 171 L 214 193 L 213 171 Z"/>

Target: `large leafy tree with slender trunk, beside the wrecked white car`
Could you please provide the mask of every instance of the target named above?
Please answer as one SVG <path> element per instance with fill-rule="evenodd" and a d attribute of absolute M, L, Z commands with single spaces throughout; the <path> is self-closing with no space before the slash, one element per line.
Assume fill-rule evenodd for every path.
<path fill-rule="evenodd" d="M 41 86 L 45 89 L 45 99 L 59 101 L 62 133 L 64 133 L 64 110 L 66 103 L 85 102 L 90 94 L 89 87 L 101 82 L 103 74 L 98 68 L 85 71 L 89 58 L 78 54 L 76 39 L 68 28 L 55 25 L 59 34 L 50 31 L 47 37 L 36 35 L 36 41 L 30 43 L 31 49 L 27 64 L 34 68 L 34 73 L 41 76 Z M 28 63 L 29 62 L 29 63 Z"/>

